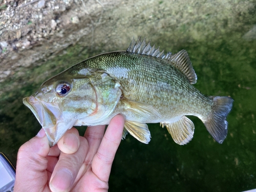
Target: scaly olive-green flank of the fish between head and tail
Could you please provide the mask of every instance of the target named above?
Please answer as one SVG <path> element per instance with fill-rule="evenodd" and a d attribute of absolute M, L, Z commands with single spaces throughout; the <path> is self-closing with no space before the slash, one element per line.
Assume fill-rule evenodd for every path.
<path fill-rule="evenodd" d="M 202 105 L 200 109 L 206 111 L 205 108 L 210 108 L 213 103 L 191 86 L 184 75 L 169 65 L 167 61 L 161 61 L 160 65 L 159 59 L 154 62 L 155 57 L 145 57 L 127 52 L 109 53 L 98 57 L 103 58 L 98 59 L 101 62 L 97 62 L 97 65 L 95 62 L 84 62 L 80 63 L 81 68 L 104 70 L 112 76 L 116 76 L 116 70 L 113 72 L 109 70 L 110 68 L 126 68 L 127 75 L 123 74 L 123 77 L 127 77 L 119 79 L 124 88 L 122 89 L 123 96 L 129 100 L 147 103 L 156 109 L 161 109 L 160 113 L 163 118 L 201 114 L 202 112 L 198 108 L 199 104 Z M 127 60 L 135 60 L 134 58 L 136 58 L 136 65 L 126 63 Z M 135 79 L 136 83 L 131 84 L 129 79 Z M 193 99 L 190 95 L 193 95 Z M 200 102 L 197 102 L 199 100 Z"/>

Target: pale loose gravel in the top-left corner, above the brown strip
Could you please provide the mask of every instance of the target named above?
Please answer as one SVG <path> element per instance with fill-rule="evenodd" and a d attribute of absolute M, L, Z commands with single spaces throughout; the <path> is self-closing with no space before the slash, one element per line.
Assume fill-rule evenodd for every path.
<path fill-rule="evenodd" d="M 1 1 L 1 0 L 0 0 Z M 78 2 L 78 1 L 77 1 Z M 10 51 L 26 49 L 36 41 L 47 38 L 63 25 L 56 20 L 75 1 L 15 1 L 2 0 L 0 14 L 0 58 Z M 49 20 L 51 22 L 49 22 Z"/>

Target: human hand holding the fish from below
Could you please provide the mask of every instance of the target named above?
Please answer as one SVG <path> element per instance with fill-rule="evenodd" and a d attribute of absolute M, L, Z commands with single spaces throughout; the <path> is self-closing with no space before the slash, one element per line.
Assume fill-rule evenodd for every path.
<path fill-rule="evenodd" d="M 108 191 L 124 118 L 88 127 L 84 137 L 73 127 L 49 147 L 43 129 L 18 151 L 14 191 Z"/>

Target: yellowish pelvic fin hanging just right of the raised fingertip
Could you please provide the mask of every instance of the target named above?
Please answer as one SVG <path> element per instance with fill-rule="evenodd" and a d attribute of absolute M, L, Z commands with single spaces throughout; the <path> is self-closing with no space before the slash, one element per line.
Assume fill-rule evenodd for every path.
<path fill-rule="evenodd" d="M 140 142 L 147 144 L 150 142 L 150 130 L 148 130 L 147 125 L 144 123 L 125 121 L 123 131 L 123 138 L 125 138 L 127 132 L 138 139 Z"/>

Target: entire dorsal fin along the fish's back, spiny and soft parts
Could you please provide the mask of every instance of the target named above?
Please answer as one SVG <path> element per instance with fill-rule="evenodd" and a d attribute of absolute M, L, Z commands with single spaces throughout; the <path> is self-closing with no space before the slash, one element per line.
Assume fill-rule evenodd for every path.
<path fill-rule="evenodd" d="M 172 55 L 171 52 L 168 52 L 166 55 L 164 55 L 164 51 L 160 52 L 159 47 L 157 49 L 155 48 L 155 45 L 151 47 L 150 41 L 148 41 L 146 44 L 145 38 L 141 41 L 141 38 L 139 37 L 136 42 L 133 38 L 129 48 L 126 51 L 130 53 L 151 55 L 153 57 L 166 59 L 172 66 L 180 70 L 187 77 L 191 84 L 195 84 L 197 82 L 197 75 L 185 50 L 181 50 L 174 55 Z"/>

